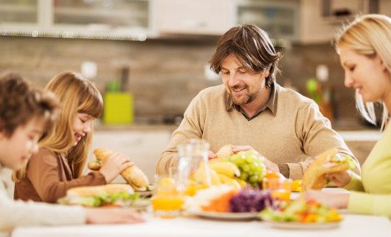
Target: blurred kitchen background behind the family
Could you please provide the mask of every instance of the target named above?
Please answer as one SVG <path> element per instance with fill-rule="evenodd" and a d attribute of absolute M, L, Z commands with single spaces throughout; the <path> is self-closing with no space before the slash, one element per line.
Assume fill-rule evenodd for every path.
<path fill-rule="evenodd" d="M 331 43 L 363 13 L 390 15 L 391 1 L 0 0 L 0 71 L 38 87 L 82 72 L 105 100 L 94 148 L 127 153 L 151 178 L 189 102 L 221 84 L 208 65 L 219 37 L 255 23 L 284 55 L 277 82 L 314 99 L 363 161 L 380 133 L 358 116 Z"/>

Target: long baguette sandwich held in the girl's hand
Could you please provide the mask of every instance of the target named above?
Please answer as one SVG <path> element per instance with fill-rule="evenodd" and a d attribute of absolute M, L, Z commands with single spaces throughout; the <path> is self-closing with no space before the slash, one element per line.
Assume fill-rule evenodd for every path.
<path fill-rule="evenodd" d="M 97 161 L 89 162 L 88 167 L 91 170 L 99 170 L 101 165 L 106 162 L 107 158 L 110 155 L 114 154 L 114 151 L 111 151 L 106 148 L 99 148 L 94 150 L 94 155 L 97 157 Z M 126 180 L 132 187 L 138 187 L 138 189 L 143 189 L 149 185 L 148 177 L 140 170 L 136 165 L 126 168 L 121 172 L 121 176 Z"/>

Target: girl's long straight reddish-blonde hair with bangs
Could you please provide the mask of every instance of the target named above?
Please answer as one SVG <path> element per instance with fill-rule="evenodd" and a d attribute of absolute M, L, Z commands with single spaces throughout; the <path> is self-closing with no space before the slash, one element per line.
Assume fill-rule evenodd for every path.
<path fill-rule="evenodd" d="M 74 178 L 82 175 L 92 143 L 92 132 L 80 140 L 76 146 L 72 124 L 77 113 L 99 118 L 103 111 L 103 99 L 97 87 L 75 72 L 62 72 L 46 85 L 45 91 L 53 92 L 61 102 L 60 116 L 53 127 L 40 139 L 41 148 L 65 155 Z M 26 177 L 26 166 L 13 175 L 14 181 Z"/>

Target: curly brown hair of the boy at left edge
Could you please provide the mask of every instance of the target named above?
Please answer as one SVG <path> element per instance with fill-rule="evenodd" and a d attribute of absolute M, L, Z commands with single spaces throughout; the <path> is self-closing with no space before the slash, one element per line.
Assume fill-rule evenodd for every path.
<path fill-rule="evenodd" d="M 45 121 L 48 129 L 60 111 L 53 93 L 34 89 L 16 73 L 0 75 L 0 132 L 12 136 L 32 118 Z"/>

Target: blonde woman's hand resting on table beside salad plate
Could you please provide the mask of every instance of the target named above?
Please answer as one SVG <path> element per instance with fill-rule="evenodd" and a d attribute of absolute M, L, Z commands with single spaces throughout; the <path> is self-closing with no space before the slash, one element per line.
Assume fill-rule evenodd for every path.
<path fill-rule="evenodd" d="M 335 192 L 321 192 L 309 190 L 302 194 L 307 201 L 316 201 L 331 208 L 346 209 L 348 207 L 349 194 Z"/>

